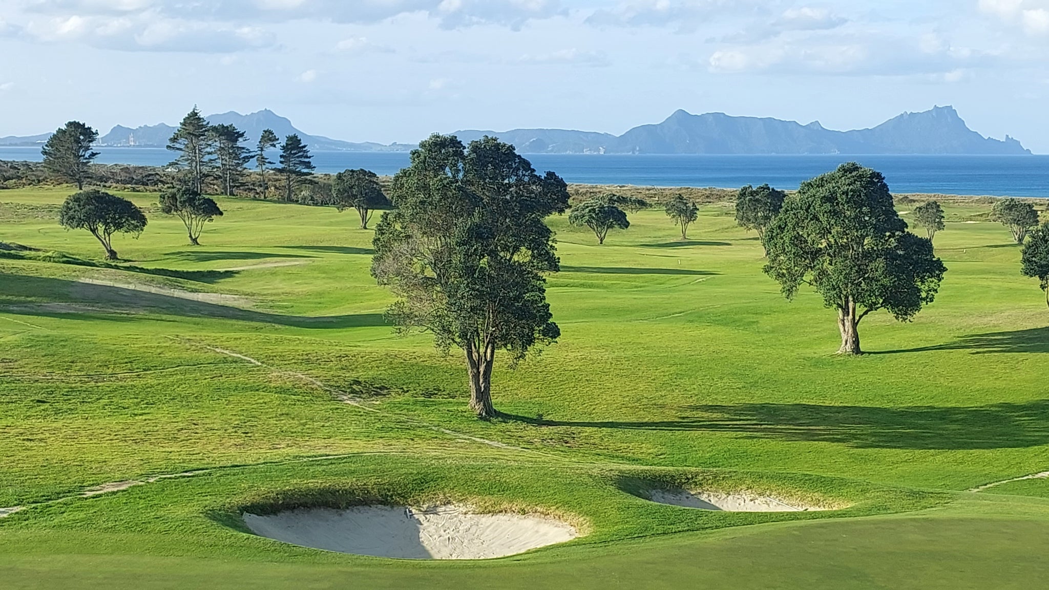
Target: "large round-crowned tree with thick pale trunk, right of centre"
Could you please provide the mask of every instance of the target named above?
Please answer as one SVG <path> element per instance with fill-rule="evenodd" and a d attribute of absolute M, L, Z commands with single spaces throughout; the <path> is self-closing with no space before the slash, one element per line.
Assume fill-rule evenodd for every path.
<path fill-rule="evenodd" d="M 906 231 L 880 172 L 855 163 L 801 184 L 765 231 L 765 273 L 793 298 L 801 285 L 838 312 L 840 354 L 860 354 L 858 325 L 887 310 L 911 320 L 939 289 L 933 243 Z"/>

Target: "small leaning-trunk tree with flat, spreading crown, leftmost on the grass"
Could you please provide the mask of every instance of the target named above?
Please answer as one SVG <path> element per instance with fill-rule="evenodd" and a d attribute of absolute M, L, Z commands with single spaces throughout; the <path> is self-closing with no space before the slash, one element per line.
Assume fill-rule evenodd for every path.
<path fill-rule="evenodd" d="M 112 236 L 114 233 L 130 233 L 135 237 L 146 229 L 146 215 L 134 203 L 98 189 L 81 191 L 69 195 L 59 212 L 59 224 L 67 230 L 91 232 L 102 248 L 106 258 L 116 260 Z"/>

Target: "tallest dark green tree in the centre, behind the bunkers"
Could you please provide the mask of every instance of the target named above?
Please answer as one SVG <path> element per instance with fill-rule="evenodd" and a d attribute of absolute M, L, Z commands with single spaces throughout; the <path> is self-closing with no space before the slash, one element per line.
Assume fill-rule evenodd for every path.
<path fill-rule="evenodd" d="M 543 219 L 568 208 L 568 186 L 493 138 L 466 148 L 435 134 L 411 152 L 391 196 L 371 267 L 400 297 L 388 315 L 401 330 L 432 332 L 441 349 L 461 347 L 470 407 L 491 418 L 496 351 L 516 361 L 560 335 L 543 278 L 559 264 Z"/>

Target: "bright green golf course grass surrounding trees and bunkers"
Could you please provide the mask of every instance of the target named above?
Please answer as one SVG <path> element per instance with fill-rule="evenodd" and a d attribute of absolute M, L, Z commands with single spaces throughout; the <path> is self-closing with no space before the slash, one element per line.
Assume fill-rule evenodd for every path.
<path fill-rule="evenodd" d="M 0 191 L 0 240 L 39 249 L 0 251 L 0 509 L 22 508 L 0 518 L 2 588 L 1019 589 L 1049 574 L 1049 479 L 966 491 L 1049 469 L 1049 312 L 989 204 L 944 203 L 936 301 L 911 323 L 868 317 L 856 358 L 833 354 L 818 295 L 787 301 L 762 273 L 730 206 L 702 207 L 687 241 L 661 210 L 603 246 L 552 217 L 562 336 L 516 368 L 497 357 L 505 418 L 484 422 L 462 353 L 385 323 L 352 211 L 217 198 L 224 216 L 190 247 L 155 195 L 121 193 L 149 226 L 104 264 L 56 220 L 69 192 Z M 838 509 L 639 498 L 660 486 Z M 239 518 L 438 500 L 583 534 L 424 563 L 285 545 Z"/>

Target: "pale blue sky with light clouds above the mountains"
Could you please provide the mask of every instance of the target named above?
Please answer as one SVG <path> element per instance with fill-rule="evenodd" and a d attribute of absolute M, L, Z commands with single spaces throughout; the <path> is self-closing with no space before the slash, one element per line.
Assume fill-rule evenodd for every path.
<path fill-rule="evenodd" d="M 0 0 L 0 135 L 270 108 L 299 129 L 832 129 L 952 105 L 1049 153 L 1049 0 Z"/>

